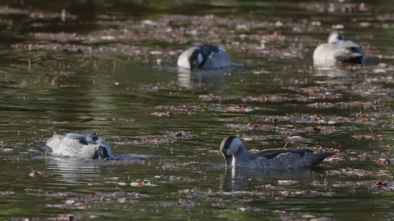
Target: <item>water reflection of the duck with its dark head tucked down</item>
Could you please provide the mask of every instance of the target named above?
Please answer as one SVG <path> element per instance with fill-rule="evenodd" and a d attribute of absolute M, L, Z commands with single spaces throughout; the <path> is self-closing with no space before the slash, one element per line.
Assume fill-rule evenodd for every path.
<path fill-rule="evenodd" d="M 188 70 L 178 67 L 178 84 L 186 88 L 217 88 L 226 82 L 230 67 L 210 70 Z"/>

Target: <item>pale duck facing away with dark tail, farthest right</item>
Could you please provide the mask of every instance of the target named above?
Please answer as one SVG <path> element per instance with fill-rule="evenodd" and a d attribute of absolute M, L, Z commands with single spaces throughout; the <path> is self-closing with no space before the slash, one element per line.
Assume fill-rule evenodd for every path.
<path fill-rule="evenodd" d="M 344 63 L 364 64 L 365 55 L 361 46 L 353 41 L 345 41 L 338 32 L 333 31 L 328 36 L 328 42 L 317 46 L 313 52 L 313 61 L 318 64 Z"/>

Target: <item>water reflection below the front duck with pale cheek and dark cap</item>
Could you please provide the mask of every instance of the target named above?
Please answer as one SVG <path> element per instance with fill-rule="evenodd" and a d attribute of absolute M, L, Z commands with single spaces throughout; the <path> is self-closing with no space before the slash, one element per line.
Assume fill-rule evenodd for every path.
<path fill-rule="evenodd" d="M 314 172 L 321 170 L 319 167 L 290 169 L 227 167 L 224 175 L 221 175 L 219 178 L 219 189 L 225 192 L 242 191 L 247 188 L 249 182 L 256 182 L 255 179 L 267 180 L 267 182 L 258 183 L 257 185 L 269 184 L 272 180 L 308 179 L 313 177 Z"/>

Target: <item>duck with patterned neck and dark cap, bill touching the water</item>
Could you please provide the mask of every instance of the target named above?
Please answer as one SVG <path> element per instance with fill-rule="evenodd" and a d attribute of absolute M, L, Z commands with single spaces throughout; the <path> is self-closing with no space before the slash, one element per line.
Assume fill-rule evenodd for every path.
<path fill-rule="evenodd" d="M 335 152 L 312 151 L 310 149 L 267 149 L 249 155 L 245 144 L 237 136 L 228 136 L 220 144 L 226 167 L 243 168 L 302 168 L 317 166 Z"/>

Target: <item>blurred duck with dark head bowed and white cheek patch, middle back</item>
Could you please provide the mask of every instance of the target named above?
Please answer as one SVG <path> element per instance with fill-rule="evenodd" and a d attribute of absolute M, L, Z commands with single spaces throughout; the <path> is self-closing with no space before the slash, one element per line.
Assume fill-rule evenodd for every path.
<path fill-rule="evenodd" d="M 229 67 L 231 59 L 223 48 L 212 44 L 200 44 L 182 52 L 177 64 L 180 68 L 190 70 L 215 69 Z"/>

